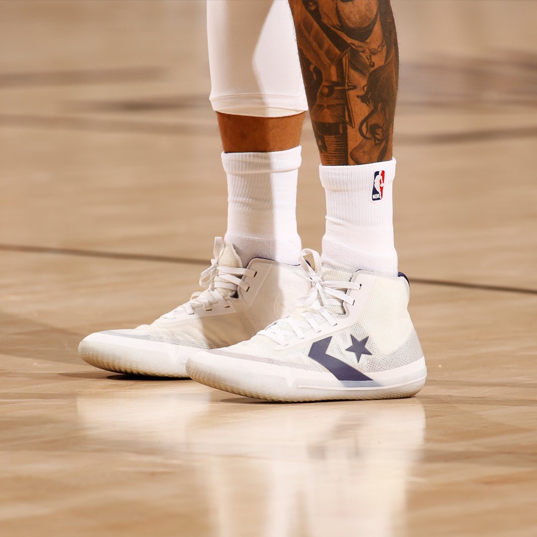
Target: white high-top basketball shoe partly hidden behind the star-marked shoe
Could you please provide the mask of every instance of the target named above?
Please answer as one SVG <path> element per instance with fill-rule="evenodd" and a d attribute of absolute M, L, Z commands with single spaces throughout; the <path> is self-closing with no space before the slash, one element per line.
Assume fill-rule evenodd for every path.
<path fill-rule="evenodd" d="M 297 270 L 270 259 L 252 259 L 243 268 L 233 245 L 216 237 L 211 267 L 201 273 L 205 291 L 153 324 L 92 333 L 78 352 L 106 371 L 188 378 L 185 364 L 193 353 L 249 339 L 292 311 L 309 289 Z"/>

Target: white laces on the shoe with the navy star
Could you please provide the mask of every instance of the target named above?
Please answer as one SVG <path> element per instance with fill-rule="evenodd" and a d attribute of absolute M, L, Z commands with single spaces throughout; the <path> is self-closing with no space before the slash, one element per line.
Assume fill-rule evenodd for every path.
<path fill-rule="evenodd" d="M 313 268 L 308 265 L 305 257 L 313 256 Z M 292 317 L 285 317 L 269 325 L 265 330 L 258 332 L 260 335 L 269 337 L 279 345 L 286 345 L 289 337 L 296 336 L 299 339 L 306 338 L 304 332 L 313 330 L 321 331 L 321 324 L 329 323 L 330 326 L 336 326 L 337 321 L 330 311 L 324 306 L 342 306 L 343 303 L 353 304 L 351 299 L 341 289 L 360 289 L 361 284 L 355 284 L 351 281 L 323 281 L 321 256 L 315 251 L 306 248 L 302 250 L 300 266 L 303 272 L 296 272 L 302 278 L 310 280 L 311 290 L 306 297 L 297 301 L 297 308 L 302 308 L 300 313 L 301 320 Z M 295 312 L 296 313 L 296 312 Z"/>

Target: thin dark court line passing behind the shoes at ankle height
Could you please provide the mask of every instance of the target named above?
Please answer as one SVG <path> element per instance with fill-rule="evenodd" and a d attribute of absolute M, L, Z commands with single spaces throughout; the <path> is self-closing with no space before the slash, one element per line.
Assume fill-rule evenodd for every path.
<path fill-rule="evenodd" d="M 55 246 L 32 246 L 25 244 L 0 244 L 0 251 L 4 252 L 26 252 L 26 253 L 46 253 L 60 256 L 79 256 L 106 259 L 124 259 L 132 261 L 149 261 L 156 263 L 177 263 L 183 265 L 206 266 L 208 260 L 193 259 L 189 257 L 157 256 L 147 253 L 124 253 L 124 252 L 103 252 L 98 250 L 79 250 L 75 248 L 56 248 Z M 503 293 L 520 293 L 527 295 L 537 295 L 537 289 L 526 287 L 507 287 L 502 285 L 473 284 L 464 281 L 436 280 L 430 278 L 409 278 L 412 284 L 440 285 L 444 287 L 457 287 L 461 289 L 478 289 L 480 291 L 499 291 Z"/>

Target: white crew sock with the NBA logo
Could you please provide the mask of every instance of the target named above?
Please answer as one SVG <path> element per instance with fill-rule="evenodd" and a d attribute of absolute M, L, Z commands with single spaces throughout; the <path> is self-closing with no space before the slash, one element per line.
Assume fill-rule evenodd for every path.
<path fill-rule="evenodd" d="M 323 262 L 397 275 L 391 195 L 395 158 L 358 166 L 321 165 L 320 175 L 326 191 Z"/>

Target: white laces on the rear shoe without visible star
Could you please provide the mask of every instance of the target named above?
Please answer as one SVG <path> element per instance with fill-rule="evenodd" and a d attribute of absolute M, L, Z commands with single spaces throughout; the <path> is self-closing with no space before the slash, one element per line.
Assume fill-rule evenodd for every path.
<path fill-rule="evenodd" d="M 237 288 L 248 291 L 250 286 L 241 278 L 243 276 L 255 276 L 256 271 L 239 269 L 238 267 L 220 266 L 219 261 L 222 246 L 222 237 L 216 237 L 213 250 L 214 259 L 211 259 L 211 266 L 201 273 L 200 286 L 207 287 L 207 289 L 193 293 L 188 302 L 181 304 L 181 306 L 169 311 L 169 313 L 164 314 L 162 317 L 166 319 L 175 318 L 181 309 L 184 309 L 187 315 L 193 315 L 195 308 L 202 307 L 206 311 L 210 311 L 216 303 L 220 304 L 223 308 L 229 308 L 230 297 L 223 296 L 218 289 L 229 289 L 234 293 L 237 291 Z M 218 281 L 215 281 L 216 277 L 219 278 Z"/>

